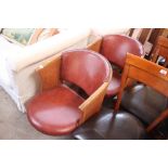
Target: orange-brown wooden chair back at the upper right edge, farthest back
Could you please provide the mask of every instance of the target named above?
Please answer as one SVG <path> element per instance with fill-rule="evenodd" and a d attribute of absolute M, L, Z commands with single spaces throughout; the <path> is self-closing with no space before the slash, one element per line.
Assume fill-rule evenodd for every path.
<path fill-rule="evenodd" d="M 152 56 L 153 62 L 157 61 L 158 55 L 164 56 L 168 62 L 168 38 L 164 36 L 158 37 L 152 55 L 153 55 Z"/>

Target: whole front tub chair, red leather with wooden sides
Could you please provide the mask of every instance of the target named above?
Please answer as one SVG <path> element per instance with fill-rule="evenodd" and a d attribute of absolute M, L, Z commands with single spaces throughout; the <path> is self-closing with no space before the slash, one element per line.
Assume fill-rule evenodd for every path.
<path fill-rule="evenodd" d="M 112 78 L 108 62 L 89 50 L 72 50 L 40 66 L 41 93 L 27 104 L 31 125 L 47 134 L 67 134 L 101 108 Z M 70 85 L 82 89 L 82 98 Z"/>

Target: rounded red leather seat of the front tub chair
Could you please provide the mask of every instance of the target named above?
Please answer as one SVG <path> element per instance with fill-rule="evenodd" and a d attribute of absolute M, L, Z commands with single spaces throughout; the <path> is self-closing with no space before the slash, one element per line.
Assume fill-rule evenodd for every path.
<path fill-rule="evenodd" d="M 27 105 L 33 126 L 47 134 L 72 132 L 81 117 L 78 106 L 85 100 L 72 89 L 60 86 L 35 96 Z"/>

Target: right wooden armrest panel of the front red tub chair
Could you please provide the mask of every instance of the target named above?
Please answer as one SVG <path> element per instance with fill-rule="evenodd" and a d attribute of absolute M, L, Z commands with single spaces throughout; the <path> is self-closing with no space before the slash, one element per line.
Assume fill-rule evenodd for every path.
<path fill-rule="evenodd" d="M 100 111 L 107 87 L 108 82 L 104 82 L 79 106 L 79 109 L 82 112 L 82 117 L 79 124 L 85 122 L 90 116 Z"/>

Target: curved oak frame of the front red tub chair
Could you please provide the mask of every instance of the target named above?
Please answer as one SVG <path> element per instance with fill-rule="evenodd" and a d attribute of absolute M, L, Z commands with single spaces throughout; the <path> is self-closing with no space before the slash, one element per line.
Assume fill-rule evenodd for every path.
<path fill-rule="evenodd" d="M 37 73 L 39 74 L 39 77 L 41 80 L 41 93 L 52 90 L 59 86 L 62 86 L 63 80 L 64 80 L 63 78 L 66 79 L 66 73 L 63 73 L 63 72 L 64 72 L 64 68 L 66 69 L 68 67 L 63 66 L 63 63 L 65 62 L 64 57 L 68 54 L 78 53 L 78 52 L 79 52 L 79 54 L 82 52 L 86 52 L 87 54 L 92 54 L 95 57 L 98 56 L 98 59 L 103 61 L 103 64 L 105 64 L 104 66 L 105 66 L 106 70 L 108 72 L 108 74 L 107 74 L 105 80 L 103 81 L 103 83 L 101 86 L 99 86 L 99 88 L 96 88 L 95 90 L 92 90 L 91 92 L 89 91 L 88 98 L 78 106 L 78 109 L 81 112 L 81 117 L 78 120 L 78 124 L 76 127 L 78 127 L 79 125 L 85 122 L 88 118 L 90 118 L 92 115 L 94 115 L 95 113 L 98 113 L 100 111 L 104 95 L 106 93 L 106 89 L 107 89 L 108 83 L 112 78 L 112 68 L 111 68 L 109 63 L 103 56 L 101 56 L 100 54 L 98 54 L 93 51 L 70 50 L 70 51 L 64 52 L 63 54 L 48 61 L 46 64 L 41 65 L 37 69 Z M 75 55 L 72 55 L 72 57 L 73 56 L 75 56 Z M 68 64 L 66 64 L 66 65 L 68 65 Z M 90 67 L 88 67 L 88 68 L 90 68 Z M 68 68 L 68 70 L 69 70 L 69 68 Z M 80 73 L 80 72 L 77 72 L 77 73 Z M 79 83 L 79 87 L 81 87 L 80 83 Z M 29 109 L 27 111 L 27 115 L 29 115 Z M 31 121 L 29 116 L 28 116 L 28 119 L 34 125 L 34 122 Z M 34 127 L 36 127 L 36 126 L 34 125 Z M 40 129 L 38 129 L 38 130 L 40 130 Z M 59 131 L 52 132 L 52 131 L 44 131 L 44 130 L 40 130 L 40 131 L 42 131 L 47 134 L 67 134 L 69 132 L 72 132 L 73 130 L 74 129 L 70 129 L 68 131 L 63 131 L 63 132 L 59 132 Z"/>

